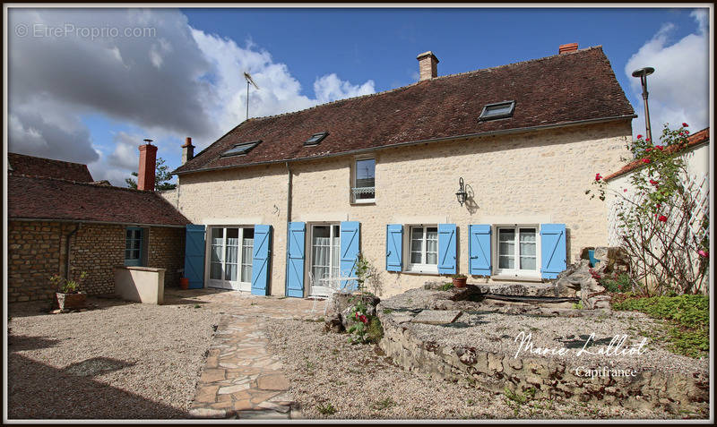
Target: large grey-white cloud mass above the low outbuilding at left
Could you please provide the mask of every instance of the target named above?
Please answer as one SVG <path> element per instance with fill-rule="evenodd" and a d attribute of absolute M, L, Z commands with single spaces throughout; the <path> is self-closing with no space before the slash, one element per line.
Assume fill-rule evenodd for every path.
<path fill-rule="evenodd" d="M 177 11 L 23 9 L 10 11 L 8 20 L 9 28 L 30 30 L 66 28 L 68 23 L 77 29 L 154 30 L 154 36 L 141 38 L 10 33 L 10 149 L 87 163 L 96 179 L 116 185 L 124 185 L 136 170 L 137 146 L 146 136 L 160 141 L 158 155 L 167 158 L 163 149 L 178 150 L 169 141 L 192 136 L 197 149 L 203 149 L 241 123 L 245 71 L 261 88 L 250 92 L 252 117 L 375 91 L 373 81 L 355 85 L 326 73 L 314 83 L 315 98 L 309 98 L 287 64 L 275 63 L 251 41 L 239 47 L 234 40 L 195 30 Z M 85 114 L 99 114 L 136 132 L 117 132 L 113 147 L 100 149 L 81 122 Z"/>

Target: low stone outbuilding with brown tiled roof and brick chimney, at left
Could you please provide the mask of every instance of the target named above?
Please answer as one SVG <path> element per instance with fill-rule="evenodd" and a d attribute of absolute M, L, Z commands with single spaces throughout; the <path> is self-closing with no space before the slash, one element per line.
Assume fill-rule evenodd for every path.
<path fill-rule="evenodd" d="M 90 295 L 115 291 L 117 266 L 166 269 L 178 283 L 189 221 L 154 189 L 157 147 L 140 147 L 138 190 L 94 182 L 85 165 L 8 153 L 8 302 L 50 299 L 52 275 Z"/>

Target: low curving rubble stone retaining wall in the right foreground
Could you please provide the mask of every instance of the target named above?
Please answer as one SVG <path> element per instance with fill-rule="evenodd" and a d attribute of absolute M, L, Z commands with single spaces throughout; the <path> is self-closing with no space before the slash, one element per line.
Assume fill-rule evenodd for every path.
<path fill-rule="evenodd" d="M 583 361 L 584 366 L 576 372 L 581 368 L 579 360 L 535 355 L 515 358 L 514 354 L 485 351 L 477 346 L 440 345 L 422 337 L 418 332 L 422 329 L 416 328 L 429 327 L 411 322 L 420 310 L 396 310 L 389 300 L 388 304 L 379 303 L 376 312 L 384 327 L 379 346 L 395 363 L 410 371 L 427 372 L 441 379 L 467 380 L 475 387 L 495 392 L 510 389 L 523 393 L 534 389 L 538 398 L 574 398 L 648 409 L 664 407 L 675 414 L 679 410 L 698 412 L 708 407 L 706 370 L 691 374 L 643 370 L 635 376 L 600 376 L 598 373 L 599 376 L 590 378 L 586 371 L 601 369 L 600 366 Z M 488 330 L 493 326 L 479 327 Z"/>

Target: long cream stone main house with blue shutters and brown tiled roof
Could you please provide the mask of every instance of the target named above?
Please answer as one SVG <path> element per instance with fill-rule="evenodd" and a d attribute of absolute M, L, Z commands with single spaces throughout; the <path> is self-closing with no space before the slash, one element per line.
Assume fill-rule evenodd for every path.
<path fill-rule="evenodd" d="M 409 86 L 251 118 L 196 156 L 187 141 L 171 200 L 193 223 L 190 286 L 302 297 L 358 252 L 383 295 L 540 282 L 607 244 L 584 192 L 620 166 L 635 112 L 601 47 L 440 77 L 418 60 Z"/>

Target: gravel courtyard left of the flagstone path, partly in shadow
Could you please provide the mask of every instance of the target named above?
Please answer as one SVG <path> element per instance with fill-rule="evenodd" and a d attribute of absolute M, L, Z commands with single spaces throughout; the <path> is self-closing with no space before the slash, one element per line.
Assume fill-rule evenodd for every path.
<path fill-rule="evenodd" d="M 90 301 L 65 314 L 11 307 L 8 417 L 186 418 L 220 315 L 192 299 Z"/>

